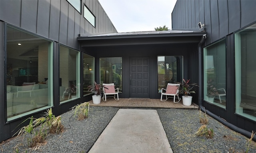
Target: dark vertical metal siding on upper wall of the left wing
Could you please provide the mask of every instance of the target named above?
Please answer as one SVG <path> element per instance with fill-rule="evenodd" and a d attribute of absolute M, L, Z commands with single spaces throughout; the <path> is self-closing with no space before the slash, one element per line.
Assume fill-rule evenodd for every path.
<path fill-rule="evenodd" d="M 0 0 L 0 20 L 79 49 L 80 33 L 117 32 L 98 0 L 82 0 L 81 14 L 66 0 Z M 84 4 L 96 17 L 84 18 Z"/>

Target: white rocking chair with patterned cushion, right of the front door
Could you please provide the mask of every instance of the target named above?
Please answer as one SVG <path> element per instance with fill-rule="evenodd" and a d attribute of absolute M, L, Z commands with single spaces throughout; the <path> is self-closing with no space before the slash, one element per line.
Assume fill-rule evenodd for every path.
<path fill-rule="evenodd" d="M 173 96 L 174 103 L 180 102 L 181 98 L 179 97 L 179 94 L 178 94 L 179 88 L 180 88 L 180 84 L 168 83 L 166 89 L 162 88 L 161 90 L 161 101 L 165 102 L 168 98 L 172 98 Z M 166 96 L 165 100 L 162 100 L 163 95 Z M 175 102 L 175 98 L 178 98 L 178 102 Z"/>

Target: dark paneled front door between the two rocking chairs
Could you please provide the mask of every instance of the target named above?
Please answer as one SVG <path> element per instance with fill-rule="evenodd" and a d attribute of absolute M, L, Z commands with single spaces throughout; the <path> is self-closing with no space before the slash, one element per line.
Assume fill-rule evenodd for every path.
<path fill-rule="evenodd" d="M 150 97 L 149 57 L 130 57 L 130 98 Z"/>

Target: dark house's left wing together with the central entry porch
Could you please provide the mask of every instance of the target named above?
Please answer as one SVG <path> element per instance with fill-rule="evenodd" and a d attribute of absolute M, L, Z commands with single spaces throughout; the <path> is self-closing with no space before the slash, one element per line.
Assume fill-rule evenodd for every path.
<path fill-rule="evenodd" d="M 203 31 L 117 33 L 98 0 L 1 0 L 0 11 L 0 141 L 48 108 L 88 102 L 94 80 L 157 99 L 168 82 L 197 80 Z"/>

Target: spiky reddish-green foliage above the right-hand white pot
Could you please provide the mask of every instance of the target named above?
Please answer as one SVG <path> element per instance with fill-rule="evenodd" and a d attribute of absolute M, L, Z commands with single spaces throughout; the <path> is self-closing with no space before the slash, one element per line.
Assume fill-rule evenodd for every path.
<path fill-rule="evenodd" d="M 186 97 L 188 97 L 188 94 L 196 93 L 194 87 L 198 86 L 196 83 L 189 84 L 189 82 L 190 82 L 190 79 L 189 80 L 183 79 L 182 82 L 177 82 L 180 84 L 179 93 L 184 94 Z"/>

